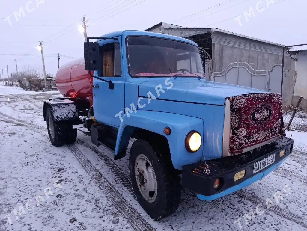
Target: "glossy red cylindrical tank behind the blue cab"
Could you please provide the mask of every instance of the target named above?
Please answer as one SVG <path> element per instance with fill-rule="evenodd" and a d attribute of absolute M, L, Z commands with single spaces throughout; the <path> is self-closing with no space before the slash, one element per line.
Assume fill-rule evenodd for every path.
<path fill-rule="evenodd" d="M 61 66 L 56 73 L 56 86 L 62 94 L 87 100 L 90 106 L 93 105 L 92 83 L 93 78 L 84 68 L 84 58 Z"/>

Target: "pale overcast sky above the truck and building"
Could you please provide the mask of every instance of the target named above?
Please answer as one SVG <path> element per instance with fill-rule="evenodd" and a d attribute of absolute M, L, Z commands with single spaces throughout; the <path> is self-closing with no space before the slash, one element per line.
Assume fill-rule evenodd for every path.
<path fill-rule="evenodd" d="M 21 7 L 25 16 L 21 14 L 19 18 L 15 13 L 19 18 L 16 21 L 14 12 L 19 14 Z M 250 7 L 255 10 L 254 15 L 249 21 L 240 17 L 240 26 L 235 17 Z M 42 71 L 41 53 L 36 48 L 42 40 L 46 72 L 55 75 L 57 53 L 83 56 L 84 35 L 78 26 L 84 14 L 88 20 L 88 36 L 125 29 L 145 30 L 162 21 L 185 27 L 217 27 L 293 45 L 307 43 L 306 9 L 306 0 L 1 0 L 0 70 L 9 65 L 9 72 L 15 72 L 16 58 L 18 70 L 31 65 L 41 67 Z M 11 26 L 5 21 L 10 15 Z M 72 60 L 64 56 L 60 65 Z"/>

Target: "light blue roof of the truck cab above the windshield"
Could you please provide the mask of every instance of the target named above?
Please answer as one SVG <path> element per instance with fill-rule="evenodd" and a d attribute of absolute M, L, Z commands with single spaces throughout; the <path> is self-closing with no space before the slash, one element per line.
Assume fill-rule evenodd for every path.
<path fill-rule="evenodd" d="M 162 33 L 154 33 L 154 32 L 148 32 L 148 31 L 142 31 L 142 30 L 122 30 L 122 31 L 115 31 L 111 33 L 104 34 L 100 37 L 118 37 L 118 36 L 129 36 L 129 35 L 140 35 L 140 36 L 154 36 L 154 37 L 161 37 L 166 39 L 172 39 L 177 41 L 182 41 L 186 43 L 193 44 L 195 46 L 198 46 L 195 42 L 189 39 L 169 35 L 169 34 L 162 34 Z M 99 41 L 99 40 L 97 40 Z"/>

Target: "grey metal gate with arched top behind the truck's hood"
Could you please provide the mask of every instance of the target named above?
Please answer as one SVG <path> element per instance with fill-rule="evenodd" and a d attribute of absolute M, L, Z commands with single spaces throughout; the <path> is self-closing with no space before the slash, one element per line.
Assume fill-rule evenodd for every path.
<path fill-rule="evenodd" d="M 258 71 L 245 62 L 231 63 L 223 71 L 212 72 L 212 81 L 280 94 L 282 64 L 273 65 L 271 70 Z"/>

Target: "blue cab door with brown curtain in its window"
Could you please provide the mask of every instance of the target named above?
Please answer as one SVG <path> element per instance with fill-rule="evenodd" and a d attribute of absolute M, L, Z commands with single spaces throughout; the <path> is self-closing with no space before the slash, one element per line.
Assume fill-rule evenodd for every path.
<path fill-rule="evenodd" d="M 107 125 L 119 127 L 120 120 L 115 117 L 124 109 L 125 80 L 122 75 L 122 45 L 121 37 L 116 41 L 104 40 L 99 47 L 101 70 L 94 74 L 100 78 L 111 80 L 114 89 L 109 89 L 109 83 L 93 79 L 93 105 L 95 119 Z"/>

